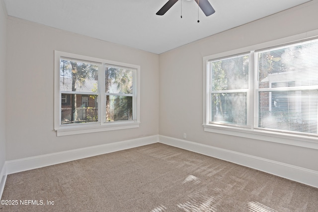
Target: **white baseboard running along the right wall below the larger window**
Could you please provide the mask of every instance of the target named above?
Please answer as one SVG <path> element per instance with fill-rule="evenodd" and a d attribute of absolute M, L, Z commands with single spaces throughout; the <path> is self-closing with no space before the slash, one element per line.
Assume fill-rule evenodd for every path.
<path fill-rule="evenodd" d="M 230 161 L 318 188 L 318 171 L 166 136 L 159 136 L 159 142 Z"/>

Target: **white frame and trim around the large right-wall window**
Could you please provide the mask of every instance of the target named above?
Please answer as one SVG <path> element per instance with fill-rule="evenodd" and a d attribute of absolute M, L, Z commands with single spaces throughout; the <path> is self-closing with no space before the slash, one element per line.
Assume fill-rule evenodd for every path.
<path fill-rule="evenodd" d="M 226 126 L 226 125 L 215 125 L 209 123 L 209 83 L 210 83 L 210 71 L 209 71 L 209 61 L 216 60 L 225 57 L 231 57 L 235 55 L 241 55 L 246 52 L 255 52 L 262 49 L 271 48 L 274 46 L 288 45 L 291 43 L 302 42 L 308 39 L 317 39 L 318 30 L 281 38 L 265 43 L 256 44 L 253 46 L 243 47 L 240 49 L 235 49 L 227 52 L 217 53 L 214 55 L 209 55 L 203 57 L 203 128 L 205 132 L 225 134 L 231 136 L 237 136 L 242 138 L 269 141 L 276 143 L 283 143 L 307 148 L 318 149 L 318 136 L 311 135 L 300 135 L 293 133 L 281 133 L 267 130 L 254 129 L 254 124 L 250 123 L 250 126 L 245 127 L 236 127 L 236 126 Z M 251 66 L 254 66 L 254 54 L 251 56 Z M 249 84 L 250 84 L 250 99 L 255 99 L 255 88 L 254 88 L 254 71 L 250 71 L 249 75 Z M 252 80 L 252 81 L 251 81 Z M 249 104 L 249 116 L 253 116 L 255 105 L 253 103 Z"/>

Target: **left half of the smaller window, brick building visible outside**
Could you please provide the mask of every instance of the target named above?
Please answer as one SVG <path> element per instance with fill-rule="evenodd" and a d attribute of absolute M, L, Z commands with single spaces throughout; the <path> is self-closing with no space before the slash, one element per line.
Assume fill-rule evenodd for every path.
<path fill-rule="evenodd" d="M 60 58 L 61 125 L 98 122 L 98 65 Z"/>

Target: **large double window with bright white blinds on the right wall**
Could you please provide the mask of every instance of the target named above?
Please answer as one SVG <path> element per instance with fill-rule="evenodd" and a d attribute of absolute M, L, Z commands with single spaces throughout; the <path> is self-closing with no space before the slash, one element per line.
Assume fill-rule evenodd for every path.
<path fill-rule="evenodd" d="M 318 140 L 318 39 L 204 62 L 205 131 Z"/>

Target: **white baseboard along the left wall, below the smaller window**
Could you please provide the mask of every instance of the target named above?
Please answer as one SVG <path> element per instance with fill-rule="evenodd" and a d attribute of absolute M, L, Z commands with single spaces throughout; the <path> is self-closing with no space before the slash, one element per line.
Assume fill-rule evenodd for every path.
<path fill-rule="evenodd" d="M 158 142 L 158 135 L 56 152 L 52 154 L 9 160 L 5 162 L 6 174 L 41 168 L 44 166 L 50 166 L 58 163 L 64 163 L 72 160 L 78 160 L 86 157 L 120 151 L 156 142 Z"/>

